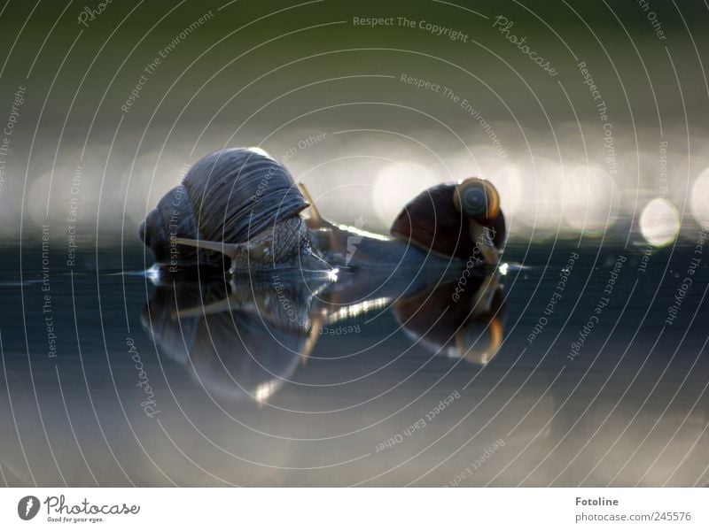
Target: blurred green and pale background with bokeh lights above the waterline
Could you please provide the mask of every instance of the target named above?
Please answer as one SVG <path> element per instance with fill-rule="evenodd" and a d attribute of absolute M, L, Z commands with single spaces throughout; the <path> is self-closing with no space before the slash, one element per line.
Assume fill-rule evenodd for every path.
<path fill-rule="evenodd" d="M 693 238 L 709 205 L 702 3 L 99 11 L 4 4 L 0 121 L 24 89 L 5 135 L 6 240 L 49 223 L 63 245 L 73 207 L 79 241 L 136 243 L 145 212 L 224 146 L 261 146 L 325 215 L 371 231 L 433 183 L 474 174 L 501 189 L 518 242 Z M 355 22 L 368 18 L 391 25 Z"/>

